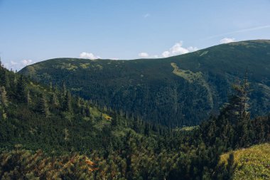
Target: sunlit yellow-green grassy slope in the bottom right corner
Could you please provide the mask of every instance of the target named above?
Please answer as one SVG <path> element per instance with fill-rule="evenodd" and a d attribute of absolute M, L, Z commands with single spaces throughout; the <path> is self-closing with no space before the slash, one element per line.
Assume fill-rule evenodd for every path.
<path fill-rule="evenodd" d="M 234 179 L 270 179 L 270 144 L 259 144 L 233 152 L 237 169 Z M 221 156 L 225 162 L 229 153 Z"/>

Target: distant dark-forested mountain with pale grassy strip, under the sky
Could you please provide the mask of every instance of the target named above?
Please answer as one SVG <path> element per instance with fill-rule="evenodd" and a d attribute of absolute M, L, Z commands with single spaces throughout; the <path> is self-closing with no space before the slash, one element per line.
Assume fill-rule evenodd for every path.
<path fill-rule="evenodd" d="M 252 115 L 270 110 L 270 41 L 242 41 L 162 59 L 56 58 L 19 73 L 61 85 L 144 120 L 198 125 L 227 100 L 229 87 L 248 69 Z"/>

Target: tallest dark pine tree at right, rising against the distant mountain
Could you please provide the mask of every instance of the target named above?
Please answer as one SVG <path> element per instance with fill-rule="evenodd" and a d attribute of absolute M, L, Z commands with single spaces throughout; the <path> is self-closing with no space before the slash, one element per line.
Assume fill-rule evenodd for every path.
<path fill-rule="evenodd" d="M 229 97 L 229 103 L 225 105 L 217 120 L 220 130 L 219 137 L 226 137 L 230 147 L 244 147 L 252 143 L 252 132 L 249 105 L 249 82 L 247 72 L 244 80 L 232 85 L 234 93 Z"/>

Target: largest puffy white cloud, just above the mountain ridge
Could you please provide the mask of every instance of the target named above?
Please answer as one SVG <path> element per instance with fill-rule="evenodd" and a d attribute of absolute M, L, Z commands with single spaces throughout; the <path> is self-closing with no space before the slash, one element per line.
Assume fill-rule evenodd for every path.
<path fill-rule="evenodd" d="M 180 41 L 179 43 L 175 43 L 173 47 L 171 47 L 168 51 L 164 51 L 161 54 L 161 57 L 167 58 L 173 55 L 180 55 L 180 54 L 185 54 L 185 53 L 190 53 L 193 51 L 198 51 L 198 48 L 190 46 L 188 48 L 183 47 L 183 42 Z"/>

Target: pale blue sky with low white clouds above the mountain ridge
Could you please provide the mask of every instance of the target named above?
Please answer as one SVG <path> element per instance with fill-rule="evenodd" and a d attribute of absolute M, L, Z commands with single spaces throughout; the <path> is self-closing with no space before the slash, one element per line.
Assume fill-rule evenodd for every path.
<path fill-rule="evenodd" d="M 59 57 L 168 57 L 270 39 L 269 10 L 269 0 L 0 0 L 0 55 L 17 70 Z"/>

